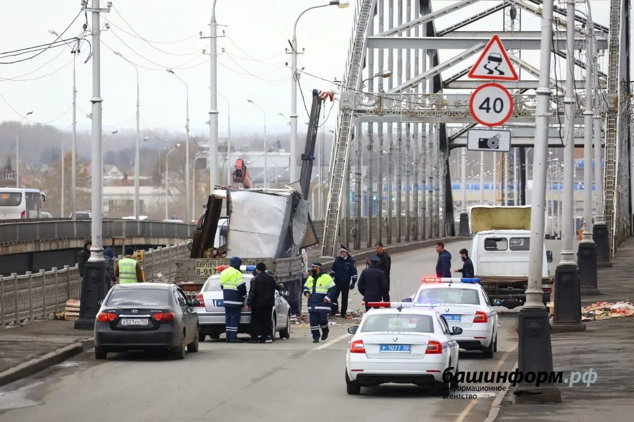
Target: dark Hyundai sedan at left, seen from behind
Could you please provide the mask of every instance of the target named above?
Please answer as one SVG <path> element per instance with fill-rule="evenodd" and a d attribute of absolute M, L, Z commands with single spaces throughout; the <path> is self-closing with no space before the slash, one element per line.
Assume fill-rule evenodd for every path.
<path fill-rule="evenodd" d="M 198 352 L 198 315 L 176 285 L 116 285 L 101 304 L 94 324 L 94 357 L 127 350 L 169 350 L 176 359 Z"/>

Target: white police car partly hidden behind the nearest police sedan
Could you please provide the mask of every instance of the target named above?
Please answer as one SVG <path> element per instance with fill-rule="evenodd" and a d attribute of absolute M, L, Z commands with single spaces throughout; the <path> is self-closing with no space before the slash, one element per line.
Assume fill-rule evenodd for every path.
<path fill-rule="evenodd" d="M 443 314 L 450 327 L 462 328 L 454 336 L 464 350 L 482 350 L 491 358 L 498 350 L 498 313 L 479 278 L 422 278 L 413 298 L 415 307 L 431 307 Z"/>

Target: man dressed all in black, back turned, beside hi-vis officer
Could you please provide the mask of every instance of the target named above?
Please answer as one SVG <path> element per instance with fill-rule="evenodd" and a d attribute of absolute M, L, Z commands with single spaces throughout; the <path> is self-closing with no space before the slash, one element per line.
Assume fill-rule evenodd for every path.
<path fill-rule="evenodd" d="M 256 265 L 257 275 L 251 279 L 247 310 L 251 311 L 251 340 L 249 343 L 273 343 L 273 307 L 275 290 L 284 286 L 275 281 L 275 277 L 266 272 L 264 262 Z"/>

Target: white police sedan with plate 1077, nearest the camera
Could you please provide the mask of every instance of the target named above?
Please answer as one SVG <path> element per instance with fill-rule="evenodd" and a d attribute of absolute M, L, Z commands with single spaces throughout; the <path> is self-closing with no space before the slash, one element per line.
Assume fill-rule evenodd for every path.
<path fill-rule="evenodd" d="M 361 324 L 348 328 L 354 336 L 346 353 L 347 393 L 359 394 L 361 387 L 383 383 L 432 386 L 446 392 L 450 382 L 443 381 L 443 373 L 450 367 L 454 375 L 458 371 L 454 336 L 462 329 L 452 331 L 439 312 L 412 303 L 370 306 L 373 309 Z M 456 387 L 454 379 L 451 387 Z"/>

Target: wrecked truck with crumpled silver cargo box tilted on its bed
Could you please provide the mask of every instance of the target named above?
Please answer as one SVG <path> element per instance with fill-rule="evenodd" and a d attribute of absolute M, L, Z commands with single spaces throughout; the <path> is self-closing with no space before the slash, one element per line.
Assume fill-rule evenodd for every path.
<path fill-rule="evenodd" d="M 296 185 L 296 186 L 295 186 Z M 294 188 L 295 186 L 295 188 Z M 278 189 L 214 189 L 193 233 L 190 258 L 176 263 L 176 284 L 195 297 L 218 267 L 240 257 L 243 265 L 264 262 L 285 286 L 295 315 L 301 313 L 305 248 L 318 243 L 308 202 L 299 184 Z"/>

